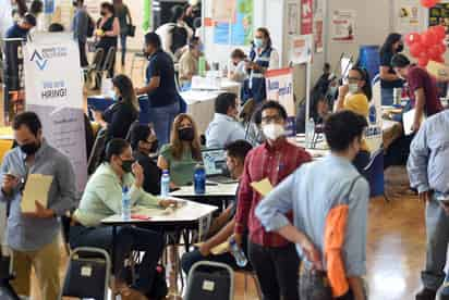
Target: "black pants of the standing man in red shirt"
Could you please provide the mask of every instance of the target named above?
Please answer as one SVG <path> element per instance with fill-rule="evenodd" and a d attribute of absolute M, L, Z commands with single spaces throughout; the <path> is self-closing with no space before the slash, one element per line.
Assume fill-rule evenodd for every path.
<path fill-rule="evenodd" d="M 298 300 L 300 258 L 294 245 L 282 248 L 248 242 L 248 257 L 257 275 L 263 300 Z"/>

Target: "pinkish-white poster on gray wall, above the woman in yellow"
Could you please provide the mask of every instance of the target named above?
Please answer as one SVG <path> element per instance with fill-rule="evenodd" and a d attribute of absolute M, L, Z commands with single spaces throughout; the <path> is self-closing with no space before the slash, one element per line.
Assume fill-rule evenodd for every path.
<path fill-rule="evenodd" d="M 332 13 L 331 39 L 338 42 L 354 42 L 355 11 L 335 10 Z"/>

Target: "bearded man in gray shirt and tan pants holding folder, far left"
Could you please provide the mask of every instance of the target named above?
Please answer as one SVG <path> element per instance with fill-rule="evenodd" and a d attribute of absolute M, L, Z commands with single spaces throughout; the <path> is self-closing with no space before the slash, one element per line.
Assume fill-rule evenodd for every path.
<path fill-rule="evenodd" d="M 12 128 L 19 147 L 5 154 L 0 170 L 0 201 L 10 207 L 7 238 L 14 255 L 12 286 L 19 295 L 29 297 L 34 267 L 43 299 L 57 299 L 61 257 L 59 216 L 75 205 L 75 174 L 69 158 L 48 145 L 34 112 L 16 115 Z M 24 203 L 23 191 L 33 174 L 52 176 L 50 189 L 47 199 Z M 24 212 L 25 205 L 34 205 L 35 211 Z"/>

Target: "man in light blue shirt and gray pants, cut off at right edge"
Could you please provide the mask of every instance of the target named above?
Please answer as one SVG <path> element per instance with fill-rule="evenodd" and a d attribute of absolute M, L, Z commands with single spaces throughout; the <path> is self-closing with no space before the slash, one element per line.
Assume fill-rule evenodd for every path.
<path fill-rule="evenodd" d="M 445 280 L 449 242 L 449 111 L 428 118 L 410 146 L 410 184 L 426 202 L 427 255 L 421 277 L 424 289 L 416 300 L 434 300 Z M 447 203 L 447 202 L 446 202 Z M 445 290 L 440 299 L 449 299 Z"/>

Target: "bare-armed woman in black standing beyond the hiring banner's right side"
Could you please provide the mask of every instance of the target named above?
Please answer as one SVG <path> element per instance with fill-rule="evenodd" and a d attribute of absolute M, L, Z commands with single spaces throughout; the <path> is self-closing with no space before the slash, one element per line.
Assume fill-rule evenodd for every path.
<path fill-rule="evenodd" d="M 112 47 L 117 50 L 118 37 L 120 35 L 120 22 L 114 16 L 114 8 L 111 3 L 102 2 L 100 7 L 101 17 L 97 22 L 97 30 L 95 37 L 97 38 L 97 48 L 105 50 L 105 55 L 101 62 L 104 65 L 109 49 Z M 116 67 L 116 55 L 112 59 L 112 66 L 108 70 L 109 77 L 113 77 Z"/>

